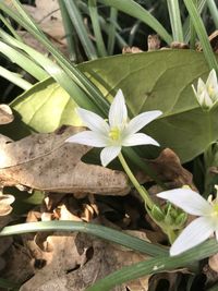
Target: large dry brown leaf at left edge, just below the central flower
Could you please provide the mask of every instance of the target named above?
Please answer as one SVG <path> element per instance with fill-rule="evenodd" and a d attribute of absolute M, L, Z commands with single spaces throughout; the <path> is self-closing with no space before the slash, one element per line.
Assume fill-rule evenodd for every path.
<path fill-rule="evenodd" d="M 128 194 L 123 172 L 81 161 L 90 147 L 64 142 L 81 130 L 62 126 L 53 133 L 1 143 L 0 184 L 59 193 Z"/>

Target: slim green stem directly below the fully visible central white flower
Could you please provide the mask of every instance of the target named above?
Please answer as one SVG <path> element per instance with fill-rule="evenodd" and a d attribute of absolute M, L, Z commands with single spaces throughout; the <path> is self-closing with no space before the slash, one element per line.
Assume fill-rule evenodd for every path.
<path fill-rule="evenodd" d="M 142 196 L 143 201 L 145 202 L 145 205 L 149 209 L 152 209 L 154 206 L 154 202 L 150 199 L 148 192 L 143 186 L 141 186 L 138 181 L 135 179 L 135 177 L 134 177 L 133 172 L 131 171 L 130 167 L 128 166 L 123 155 L 120 153 L 118 157 L 119 157 L 119 160 L 120 160 L 123 169 L 125 170 L 128 177 L 130 178 L 130 181 L 133 183 L 133 185 L 135 186 L 135 189 L 137 190 L 140 195 Z"/>

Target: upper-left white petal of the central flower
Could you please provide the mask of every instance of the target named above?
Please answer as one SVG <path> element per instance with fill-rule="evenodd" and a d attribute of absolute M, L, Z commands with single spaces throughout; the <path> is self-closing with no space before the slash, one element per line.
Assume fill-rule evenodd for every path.
<path fill-rule="evenodd" d="M 77 108 L 77 112 L 84 124 L 89 130 L 107 135 L 109 132 L 109 125 L 101 117 L 83 108 Z"/>

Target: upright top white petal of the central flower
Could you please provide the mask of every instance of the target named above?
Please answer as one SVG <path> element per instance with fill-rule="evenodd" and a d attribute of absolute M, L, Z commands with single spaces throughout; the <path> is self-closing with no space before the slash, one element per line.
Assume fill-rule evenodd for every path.
<path fill-rule="evenodd" d="M 122 126 L 128 120 L 128 109 L 125 99 L 121 89 L 118 90 L 109 110 L 109 124 L 113 126 Z"/>

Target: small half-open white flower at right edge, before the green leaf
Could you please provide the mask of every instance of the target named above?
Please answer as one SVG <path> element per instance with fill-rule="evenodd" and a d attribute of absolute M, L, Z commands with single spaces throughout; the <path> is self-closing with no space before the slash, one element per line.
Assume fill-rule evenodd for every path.
<path fill-rule="evenodd" d="M 217 75 L 214 69 L 210 71 L 206 84 L 199 77 L 197 83 L 197 90 L 193 85 L 192 87 L 196 99 L 203 109 L 210 109 L 218 100 L 218 83 Z"/>

